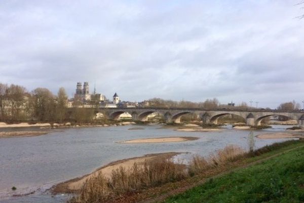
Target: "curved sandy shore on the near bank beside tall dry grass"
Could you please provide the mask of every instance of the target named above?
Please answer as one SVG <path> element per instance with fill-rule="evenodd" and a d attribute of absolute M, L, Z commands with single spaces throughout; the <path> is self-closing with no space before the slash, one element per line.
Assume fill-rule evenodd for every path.
<path fill-rule="evenodd" d="M 137 165 L 140 166 L 144 163 L 145 160 L 153 160 L 153 159 L 157 159 L 157 158 L 163 157 L 163 156 L 165 156 L 166 158 L 171 158 L 178 154 L 180 154 L 180 153 L 168 152 L 168 153 L 159 153 L 159 154 L 147 154 L 147 155 L 144 155 L 141 157 L 134 157 L 134 158 L 123 159 L 123 160 L 111 162 L 101 168 L 98 168 L 96 171 L 94 171 L 91 174 L 85 175 L 81 178 L 75 178 L 75 179 L 66 181 L 64 183 L 59 183 L 58 185 L 55 185 L 52 188 L 52 192 L 54 194 L 75 192 L 75 191 L 80 190 L 81 187 L 83 186 L 83 184 L 89 178 L 96 176 L 99 172 L 101 172 L 105 178 L 110 178 L 112 170 L 116 170 L 116 169 L 120 168 L 121 166 L 130 168 L 134 165 L 135 162 L 137 163 Z"/>

